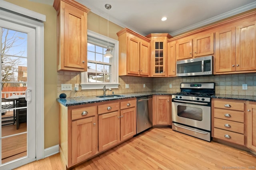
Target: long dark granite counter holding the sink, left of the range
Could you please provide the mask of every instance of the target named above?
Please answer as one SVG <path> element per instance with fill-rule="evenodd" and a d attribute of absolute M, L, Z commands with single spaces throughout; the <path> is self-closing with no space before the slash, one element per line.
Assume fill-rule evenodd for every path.
<path fill-rule="evenodd" d="M 122 97 L 98 98 L 96 96 L 81 96 L 76 98 L 57 99 L 57 101 L 64 106 L 75 106 L 75 105 L 81 105 L 81 104 L 106 102 L 106 101 L 112 101 L 112 100 L 138 98 L 138 97 L 144 97 L 144 96 L 151 96 L 153 94 L 154 95 L 166 95 L 166 94 L 172 95 L 174 93 L 176 92 L 137 92 L 137 93 L 118 94 L 118 95 L 122 95 Z"/>

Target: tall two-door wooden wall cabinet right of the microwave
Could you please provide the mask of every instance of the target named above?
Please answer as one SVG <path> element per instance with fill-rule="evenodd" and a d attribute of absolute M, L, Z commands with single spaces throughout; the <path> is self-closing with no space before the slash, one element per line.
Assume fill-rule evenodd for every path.
<path fill-rule="evenodd" d="M 216 32 L 217 74 L 256 70 L 256 22 Z"/>

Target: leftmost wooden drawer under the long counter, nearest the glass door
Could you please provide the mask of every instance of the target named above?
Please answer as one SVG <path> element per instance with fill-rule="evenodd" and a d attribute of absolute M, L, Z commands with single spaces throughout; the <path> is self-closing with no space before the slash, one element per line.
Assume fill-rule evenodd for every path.
<path fill-rule="evenodd" d="M 96 115 L 96 106 L 82 107 L 71 110 L 72 120 Z"/>

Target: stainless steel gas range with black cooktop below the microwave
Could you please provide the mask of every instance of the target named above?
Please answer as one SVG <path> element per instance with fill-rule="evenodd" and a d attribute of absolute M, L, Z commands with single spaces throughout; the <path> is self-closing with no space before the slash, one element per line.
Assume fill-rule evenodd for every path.
<path fill-rule="evenodd" d="M 211 141 L 211 97 L 215 84 L 181 83 L 172 95 L 172 129 Z"/>

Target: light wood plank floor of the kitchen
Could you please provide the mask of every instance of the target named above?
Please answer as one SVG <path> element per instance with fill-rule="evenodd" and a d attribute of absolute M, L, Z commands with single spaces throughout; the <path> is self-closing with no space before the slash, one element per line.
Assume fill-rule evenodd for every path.
<path fill-rule="evenodd" d="M 256 156 L 214 141 L 190 137 L 170 128 L 152 128 L 84 162 L 73 170 L 220 170 L 255 166 Z M 236 167 L 236 168 L 234 168 Z M 238 167 L 238 168 L 237 168 Z M 63 170 L 55 154 L 16 170 Z"/>

